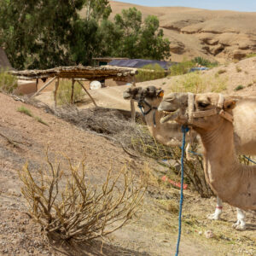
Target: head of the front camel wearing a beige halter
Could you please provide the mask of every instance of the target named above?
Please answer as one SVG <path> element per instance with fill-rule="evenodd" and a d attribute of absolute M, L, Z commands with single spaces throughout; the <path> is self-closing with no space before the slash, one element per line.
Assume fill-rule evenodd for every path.
<path fill-rule="evenodd" d="M 165 113 L 165 117 L 161 119 L 162 123 L 172 119 L 181 125 L 208 131 L 224 119 L 232 122 L 232 109 L 235 106 L 235 99 L 224 98 L 218 93 L 171 93 L 163 99 L 158 109 Z"/>

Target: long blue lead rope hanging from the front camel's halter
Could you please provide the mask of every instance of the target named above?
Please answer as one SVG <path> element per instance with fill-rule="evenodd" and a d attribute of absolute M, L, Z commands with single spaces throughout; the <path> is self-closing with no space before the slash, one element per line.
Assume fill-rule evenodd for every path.
<path fill-rule="evenodd" d="M 181 236 L 181 226 L 182 226 L 182 212 L 183 212 L 183 160 L 184 160 L 184 151 L 185 151 L 185 139 L 186 139 L 186 133 L 189 131 L 189 127 L 182 126 L 182 132 L 183 132 L 183 146 L 182 146 L 182 157 L 181 157 L 181 189 L 180 189 L 180 201 L 179 201 L 179 214 L 178 214 L 178 235 L 177 235 L 177 247 L 176 247 L 176 254 L 178 255 L 178 247 L 180 242 L 180 236 Z"/>

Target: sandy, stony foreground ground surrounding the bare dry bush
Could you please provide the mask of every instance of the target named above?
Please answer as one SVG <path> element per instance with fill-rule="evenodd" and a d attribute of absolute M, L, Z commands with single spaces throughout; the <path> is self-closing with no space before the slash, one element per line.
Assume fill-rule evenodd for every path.
<path fill-rule="evenodd" d="M 111 94 L 113 91 L 114 88 L 111 88 Z M 119 88 L 117 91 L 121 93 Z M 101 102 L 103 95 L 99 96 Z M 109 99 L 108 95 L 105 97 Z M 0 94 L 0 102 L 0 255 L 61 254 L 44 243 L 40 227 L 26 214 L 27 206 L 20 195 L 21 183 L 16 171 L 28 161 L 32 173 L 36 175 L 37 168 L 44 165 L 47 145 L 52 159 L 60 151 L 72 160 L 79 160 L 86 154 L 88 175 L 94 183 L 102 182 L 111 163 L 113 172 L 118 172 L 126 162 L 130 162 L 134 170 L 147 162 L 152 172 L 158 175 L 168 172 L 154 160 L 131 159 L 118 144 L 57 119 L 43 109 L 15 102 L 12 97 L 3 94 Z M 26 106 L 49 126 L 18 112 L 20 106 Z M 116 108 L 118 105 L 112 106 Z M 7 137 L 15 145 L 9 143 Z M 170 204 L 171 199 L 178 201 L 176 189 L 166 189 L 162 184 L 150 186 L 141 218 L 109 236 L 109 241 L 103 246 L 103 255 L 173 254 L 177 240 L 177 212 L 170 212 L 160 203 L 166 201 Z M 225 206 L 226 212 L 221 221 L 212 222 L 206 218 L 213 211 L 214 204 L 214 199 L 201 199 L 191 191 L 186 193 L 180 255 L 254 255 L 256 225 L 253 215 L 247 213 L 249 229 L 239 232 L 231 228 L 236 212 L 229 206 Z M 204 236 L 206 230 L 212 230 L 215 237 L 207 239 Z M 101 255 L 100 248 L 98 243 L 85 247 L 84 255 Z"/>

